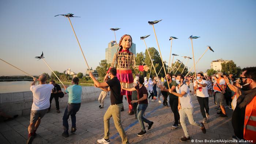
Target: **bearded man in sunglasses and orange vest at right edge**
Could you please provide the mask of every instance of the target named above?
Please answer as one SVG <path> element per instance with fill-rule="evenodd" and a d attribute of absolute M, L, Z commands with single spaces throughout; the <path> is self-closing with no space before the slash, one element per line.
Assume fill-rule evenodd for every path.
<path fill-rule="evenodd" d="M 241 95 L 232 115 L 233 138 L 240 142 L 256 143 L 256 67 L 244 68 L 240 77 Z"/>

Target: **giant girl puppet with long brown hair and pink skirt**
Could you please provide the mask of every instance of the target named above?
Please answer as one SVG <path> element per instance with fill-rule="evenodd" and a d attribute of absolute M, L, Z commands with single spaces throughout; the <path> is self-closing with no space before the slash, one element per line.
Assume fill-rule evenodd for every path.
<path fill-rule="evenodd" d="M 117 78 L 120 81 L 120 84 L 124 88 L 132 88 L 133 85 L 133 76 L 132 76 L 132 68 L 139 69 L 139 71 L 148 71 L 147 65 L 136 65 L 135 63 L 135 54 L 131 53 L 129 49 L 132 46 L 132 37 L 131 35 L 125 34 L 121 37 L 119 41 L 119 50 L 114 54 L 111 66 L 109 70 L 113 67 L 117 69 Z M 108 71 L 109 72 L 109 71 Z M 108 75 L 108 74 L 107 74 Z M 106 75 L 106 76 L 107 76 Z M 127 101 L 129 104 L 129 114 L 133 114 L 134 111 L 132 109 L 131 104 L 131 91 L 121 90 L 121 95 L 127 96 Z"/>

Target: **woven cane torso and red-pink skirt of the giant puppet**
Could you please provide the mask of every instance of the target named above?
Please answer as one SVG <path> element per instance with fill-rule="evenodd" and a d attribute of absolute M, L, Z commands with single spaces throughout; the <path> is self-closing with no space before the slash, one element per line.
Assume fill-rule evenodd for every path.
<path fill-rule="evenodd" d="M 124 88 L 133 87 L 131 68 L 135 68 L 135 55 L 131 52 L 118 52 L 114 55 L 112 67 L 116 66 L 117 78 Z M 121 95 L 132 95 L 131 91 L 122 90 Z"/>

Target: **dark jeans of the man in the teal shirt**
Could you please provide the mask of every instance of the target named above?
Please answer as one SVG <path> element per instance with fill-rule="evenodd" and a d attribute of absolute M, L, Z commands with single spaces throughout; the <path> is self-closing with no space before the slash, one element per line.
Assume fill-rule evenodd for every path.
<path fill-rule="evenodd" d="M 68 103 L 65 112 L 63 114 L 63 129 L 68 131 L 68 118 L 71 116 L 72 127 L 76 127 L 76 113 L 79 111 L 81 103 Z"/>

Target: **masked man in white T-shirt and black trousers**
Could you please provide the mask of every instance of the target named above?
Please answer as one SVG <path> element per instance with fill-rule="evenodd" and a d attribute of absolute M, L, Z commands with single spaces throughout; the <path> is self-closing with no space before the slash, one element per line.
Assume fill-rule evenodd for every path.
<path fill-rule="evenodd" d="M 207 124 L 209 115 L 209 95 L 207 90 L 207 81 L 203 80 L 203 73 L 197 73 L 196 81 L 194 82 L 194 90 L 196 90 L 197 101 L 200 105 L 201 114 L 203 116 L 203 123 Z M 205 111 L 204 111 L 205 109 Z"/>

